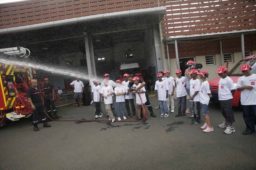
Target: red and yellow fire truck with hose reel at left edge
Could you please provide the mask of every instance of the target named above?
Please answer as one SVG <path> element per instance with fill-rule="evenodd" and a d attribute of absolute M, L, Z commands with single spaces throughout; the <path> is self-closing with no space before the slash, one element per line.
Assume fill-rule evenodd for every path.
<path fill-rule="evenodd" d="M 26 58 L 30 55 L 30 51 L 27 51 L 29 50 L 22 47 L 3 48 L 0 49 L 0 54 L 3 57 L 23 54 L 19 57 Z M 0 126 L 5 124 L 4 119 L 16 121 L 31 115 L 32 108 L 26 97 L 31 79 L 37 79 L 31 64 L 15 65 L 15 62 L 6 63 L 0 60 Z"/>

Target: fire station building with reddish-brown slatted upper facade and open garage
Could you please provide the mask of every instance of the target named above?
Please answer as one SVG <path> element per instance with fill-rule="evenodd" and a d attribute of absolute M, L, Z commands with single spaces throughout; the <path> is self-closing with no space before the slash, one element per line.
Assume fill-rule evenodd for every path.
<path fill-rule="evenodd" d="M 25 47 L 36 62 L 112 79 L 133 62 L 146 81 L 166 69 L 176 77 L 188 60 L 212 79 L 220 65 L 256 54 L 255 0 L 27 0 L 0 4 L 0 15 L 0 48 Z M 70 81 L 38 72 L 61 88 Z"/>

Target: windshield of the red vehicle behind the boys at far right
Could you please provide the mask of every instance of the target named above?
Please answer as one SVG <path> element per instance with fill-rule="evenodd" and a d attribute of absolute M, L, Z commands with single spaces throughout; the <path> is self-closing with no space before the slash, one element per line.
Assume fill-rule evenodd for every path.
<path fill-rule="evenodd" d="M 249 64 L 252 68 L 251 73 L 256 74 L 256 58 L 252 59 L 242 59 L 239 61 L 229 72 L 229 76 L 243 76 L 242 72 L 240 71 L 241 65 L 243 64 Z"/>

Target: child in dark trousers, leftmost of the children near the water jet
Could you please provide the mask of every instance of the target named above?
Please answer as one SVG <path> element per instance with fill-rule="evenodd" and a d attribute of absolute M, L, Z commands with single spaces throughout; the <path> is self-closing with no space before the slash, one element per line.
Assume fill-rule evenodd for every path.
<path fill-rule="evenodd" d="M 103 114 L 101 113 L 101 107 L 100 107 L 100 103 L 101 103 L 101 87 L 99 86 L 98 80 L 97 79 L 93 79 L 93 100 L 95 102 L 95 118 L 98 119 L 99 117 L 102 117 Z"/>

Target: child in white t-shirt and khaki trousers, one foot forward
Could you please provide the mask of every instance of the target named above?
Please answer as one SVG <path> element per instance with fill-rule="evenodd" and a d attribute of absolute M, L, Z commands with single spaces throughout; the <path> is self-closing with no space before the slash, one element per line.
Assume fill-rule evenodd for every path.
<path fill-rule="evenodd" d="M 105 107 L 108 112 L 109 119 L 112 119 L 112 123 L 115 122 L 115 117 L 111 111 L 111 104 L 113 103 L 112 96 L 114 94 L 114 90 L 111 85 L 108 85 L 108 79 L 103 80 L 104 86 L 102 86 L 100 93 L 102 97 L 104 97 Z"/>

